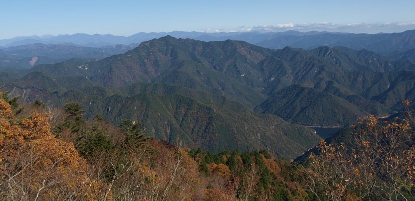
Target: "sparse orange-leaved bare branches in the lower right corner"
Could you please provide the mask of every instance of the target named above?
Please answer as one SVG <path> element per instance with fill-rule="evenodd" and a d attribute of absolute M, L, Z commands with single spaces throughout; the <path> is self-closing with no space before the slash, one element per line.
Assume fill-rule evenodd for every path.
<path fill-rule="evenodd" d="M 415 121 L 403 103 L 404 116 L 360 118 L 348 146 L 321 141 L 300 166 L 303 188 L 318 200 L 414 200 Z"/>

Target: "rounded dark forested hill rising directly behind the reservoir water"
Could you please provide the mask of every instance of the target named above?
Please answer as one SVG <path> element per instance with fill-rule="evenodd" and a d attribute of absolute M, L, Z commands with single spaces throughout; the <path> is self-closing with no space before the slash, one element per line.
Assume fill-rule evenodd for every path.
<path fill-rule="evenodd" d="M 256 110 L 275 114 L 291 122 L 317 126 L 321 126 L 320 122 L 343 126 L 369 114 L 340 97 L 300 85 L 291 85 L 277 92 Z"/>

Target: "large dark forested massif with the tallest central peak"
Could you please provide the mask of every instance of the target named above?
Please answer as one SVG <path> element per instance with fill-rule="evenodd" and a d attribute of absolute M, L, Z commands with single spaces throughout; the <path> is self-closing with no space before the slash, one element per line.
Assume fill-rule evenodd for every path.
<path fill-rule="evenodd" d="M 85 76 L 104 87 L 167 83 L 223 93 L 250 108 L 297 84 L 330 93 L 362 111 L 386 115 L 400 100 L 413 99 L 414 69 L 410 61 L 394 61 L 368 50 L 269 50 L 242 41 L 202 42 L 167 36 L 103 60 L 73 59 L 38 65 L 31 71 L 53 77 Z M 302 118 L 312 119 L 309 115 Z M 344 124 L 354 117 L 341 119 L 349 119 L 338 121 Z"/>

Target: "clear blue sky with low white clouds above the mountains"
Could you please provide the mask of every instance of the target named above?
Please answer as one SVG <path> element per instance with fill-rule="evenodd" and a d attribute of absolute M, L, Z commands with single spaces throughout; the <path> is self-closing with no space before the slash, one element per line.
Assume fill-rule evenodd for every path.
<path fill-rule="evenodd" d="M 4 0 L 0 39 L 179 31 L 401 32 L 415 0 Z"/>

